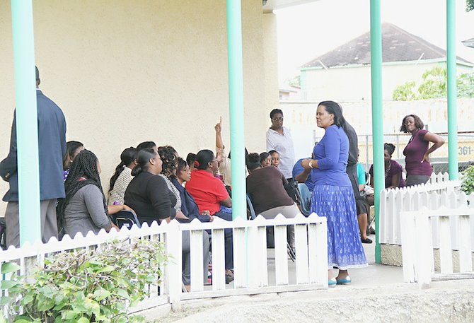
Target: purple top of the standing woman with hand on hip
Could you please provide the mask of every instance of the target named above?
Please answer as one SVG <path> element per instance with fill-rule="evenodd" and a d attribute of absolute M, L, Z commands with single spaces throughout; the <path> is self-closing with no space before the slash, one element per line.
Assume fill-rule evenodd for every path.
<path fill-rule="evenodd" d="M 428 150 L 429 141 L 424 140 L 424 135 L 427 134 L 427 130 L 418 130 L 407 146 L 403 149 L 403 155 L 405 155 L 405 169 L 407 170 L 407 176 L 410 175 L 432 175 L 432 165 L 423 160 L 424 153 Z"/>

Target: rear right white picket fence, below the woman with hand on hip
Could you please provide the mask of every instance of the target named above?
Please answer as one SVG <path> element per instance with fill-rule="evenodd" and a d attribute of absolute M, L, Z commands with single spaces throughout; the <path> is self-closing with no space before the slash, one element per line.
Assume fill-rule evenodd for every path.
<path fill-rule="evenodd" d="M 380 196 L 380 224 L 378 242 L 381 244 L 401 245 L 400 213 L 416 211 L 422 207 L 436 209 L 439 206 L 466 206 L 468 197 L 459 191 L 461 181 L 447 180 L 447 174 L 433 175 L 430 183 L 403 187 L 402 189 L 385 189 Z M 473 204 L 470 204 L 471 207 Z M 457 230 L 456 220 L 453 220 L 453 231 Z M 436 226 L 434 226 L 434 230 Z M 453 235 L 453 240 L 456 240 Z M 435 243 L 436 245 L 436 243 Z M 458 247 L 453 241 L 453 247 Z"/>

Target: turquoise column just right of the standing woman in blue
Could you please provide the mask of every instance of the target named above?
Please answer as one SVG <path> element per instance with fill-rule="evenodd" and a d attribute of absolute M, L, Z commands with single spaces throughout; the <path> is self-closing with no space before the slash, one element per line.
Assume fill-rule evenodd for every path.
<path fill-rule="evenodd" d="M 382 108 L 382 27 L 380 0 L 370 1 L 370 56 L 372 86 L 372 135 L 374 138 L 374 192 L 375 192 L 375 261 L 381 263 L 378 225 L 380 218 L 380 192 L 385 189 L 383 164 L 383 108 Z"/>

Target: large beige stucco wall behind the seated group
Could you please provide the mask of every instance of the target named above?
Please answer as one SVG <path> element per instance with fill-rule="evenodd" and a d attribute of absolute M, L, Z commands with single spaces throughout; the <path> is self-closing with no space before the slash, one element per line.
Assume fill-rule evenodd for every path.
<path fill-rule="evenodd" d="M 173 145 L 184 156 L 213 149 L 220 116 L 229 146 L 225 1 L 42 0 L 33 6 L 40 88 L 64 110 L 67 139 L 96 152 L 104 184 L 122 150 L 141 141 Z M 0 0 L 0 8 L 4 158 L 15 102 L 10 1 Z M 246 146 L 262 151 L 267 111 L 278 100 L 276 35 L 264 36 L 276 28 L 271 13 L 264 19 L 261 0 L 243 0 L 242 8 Z M 2 196 L 6 189 L 2 182 Z"/>

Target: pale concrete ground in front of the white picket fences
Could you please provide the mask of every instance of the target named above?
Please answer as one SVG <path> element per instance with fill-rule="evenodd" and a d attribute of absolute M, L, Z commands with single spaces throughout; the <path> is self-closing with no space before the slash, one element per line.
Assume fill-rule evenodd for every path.
<path fill-rule="evenodd" d="M 371 240 L 375 241 L 372 235 Z M 326 290 L 240 295 L 184 301 L 182 310 L 143 313 L 151 322 L 474 322 L 474 280 L 437 281 L 428 289 L 403 283 L 403 269 L 375 264 L 375 244 L 364 244 L 369 266 L 349 271 L 350 286 Z M 296 280 L 288 260 L 289 283 Z M 255 269 L 257 270 L 257 269 Z M 274 250 L 268 249 L 274 286 Z M 205 286 L 206 289 L 210 286 Z M 233 288 L 232 283 L 226 288 Z M 164 315 L 163 315 L 164 314 Z"/>

